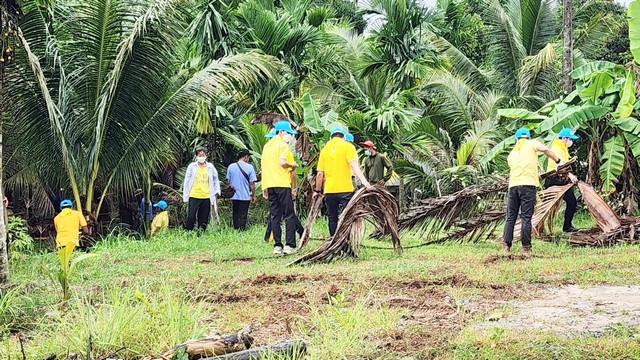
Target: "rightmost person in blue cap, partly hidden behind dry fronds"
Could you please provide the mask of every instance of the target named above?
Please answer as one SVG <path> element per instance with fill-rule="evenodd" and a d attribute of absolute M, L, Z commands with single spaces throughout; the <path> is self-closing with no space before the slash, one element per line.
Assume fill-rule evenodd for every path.
<path fill-rule="evenodd" d="M 551 144 L 551 151 L 560 158 L 560 161 L 563 163 L 567 162 L 570 158 L 569 148 L 573 145 L 573 140 L 578 140 L 579 138 L 580 137 L 571 129 L 564 128 L 558 134 L 558 138 Z M 549 161 L 547 171 L 555 170 L 557 166 L 558 164 L 555 162 Z M 574 174 L 569 173 L 567 177 L 568 179 L 561 176 L 550 176 L 545 179 L 544 186 L 549 188 L 551 186 L 563 186 L 569 182 L 573 184 L 578 182 L 578 178 Z M 576 229 L 573 227 L 573 216 L 576 213 L 578 201 L 576 200 L 576 195 L 573 193 L 573 189 L 569 189 L 569 191 L 565 192 L 563 199 L 567 204 L 567 207 L 564 212 L 564 224 L 562 225 L 562 231 L 566 233 L 575 232 Z"/>

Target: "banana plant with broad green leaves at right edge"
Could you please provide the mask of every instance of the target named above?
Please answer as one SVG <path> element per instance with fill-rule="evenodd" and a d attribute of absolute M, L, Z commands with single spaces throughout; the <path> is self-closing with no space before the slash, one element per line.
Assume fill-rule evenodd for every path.
<path fill-rule="evenodd" d="M 538 111 L 501 109 L 499 115 L 512 120 L 511 130 L 528 127 L 545 142 L 553 140 L 562 128 L 577 129 L 588 147 L 588 177 L 597 177 L 601 190 L 612 194 L 620 187 L 621 177 L 632 181 L 634 168 L 629 158 L 640 160 L 640 103 L 636 100 L 635 65 L 628 69 L 606 61 L 589 62 L 575 69 L 571 76 L 576 90 L 559 101 L 553 101 Z M 496 145 L 482 162 L 491 162 L 509 148 L 512 137 Z M 624 186 L 622 186 L 624 188 Z"/>

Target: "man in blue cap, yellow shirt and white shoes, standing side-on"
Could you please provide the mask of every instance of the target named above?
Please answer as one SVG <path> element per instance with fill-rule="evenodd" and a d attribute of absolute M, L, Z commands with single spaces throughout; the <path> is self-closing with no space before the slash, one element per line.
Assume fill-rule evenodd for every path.
<path fill-rule="evenodd" d="M 275 136 L 262 150 L 262 195 L 269 200 L 269 217 L 273 230 L 273 253 L 293 254 L 296 251 L 296 224 L 293 210 L 295 189 L 291 188 L 291 172 L 298 164 L 289 150 L 289 142 L 297 132 L 287 120 L 278 121 Z M 282 246 L 281 222 L 285 221 L 285 247 Z"/>

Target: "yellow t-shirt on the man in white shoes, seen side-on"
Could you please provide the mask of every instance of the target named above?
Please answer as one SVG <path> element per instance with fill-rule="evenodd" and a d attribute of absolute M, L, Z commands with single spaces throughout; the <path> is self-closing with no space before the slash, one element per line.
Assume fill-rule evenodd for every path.
<path fill-rule="evenodd" d="M 262 188 L 290 188 L 291 173 L 280 165 L 280 159 L 293 162 L 289 145 L 281 136 L 275 136 L 262 149 Z"/>

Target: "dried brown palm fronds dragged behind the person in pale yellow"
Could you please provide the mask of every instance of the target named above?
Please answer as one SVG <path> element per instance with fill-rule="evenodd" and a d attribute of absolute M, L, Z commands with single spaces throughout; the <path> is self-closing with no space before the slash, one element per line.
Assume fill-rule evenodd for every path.
<path fill-rule="evenodd" d="M 427 238 L 425 245 L 486 239 L 504 221 L 507 189 L 505 179 L 489 177 L 451 195 L 421 200 L 400 216 L 400 229 L 417 230 Z"/>

